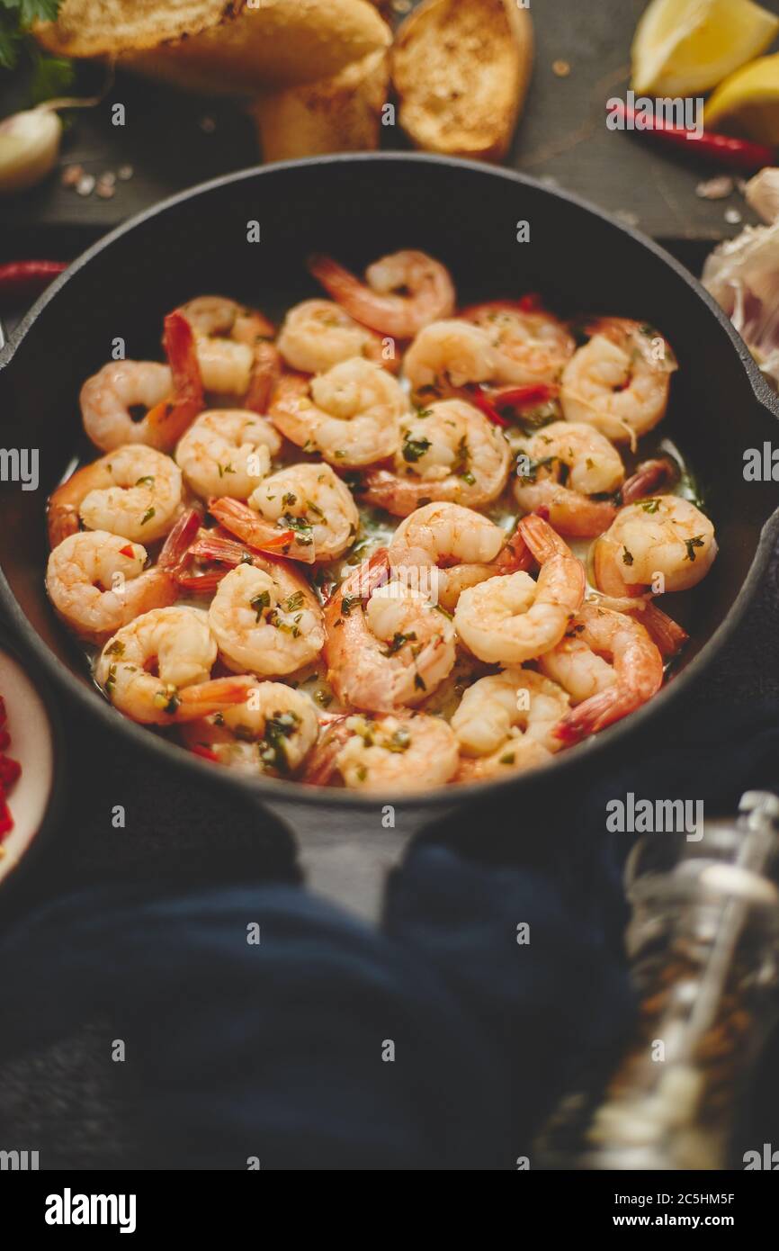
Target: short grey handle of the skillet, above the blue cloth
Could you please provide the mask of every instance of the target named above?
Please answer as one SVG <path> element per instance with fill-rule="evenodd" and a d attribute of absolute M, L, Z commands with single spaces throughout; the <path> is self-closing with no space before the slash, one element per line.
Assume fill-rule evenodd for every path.
<path fill-rule="evenodd" d="M 351 808 L 290 799 L 263 799 L 259 806 L 289 831 L 309 888 L 373 924 L 381 919 L 386 876 L 414 836 L 433 818 L 454 812 L 431 813 L 406 803 Z"/>

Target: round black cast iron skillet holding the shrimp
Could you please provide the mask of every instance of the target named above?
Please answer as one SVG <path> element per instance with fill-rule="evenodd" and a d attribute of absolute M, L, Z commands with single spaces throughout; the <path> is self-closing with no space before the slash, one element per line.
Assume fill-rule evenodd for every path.
<path fill-rule="evenodd" d="M 530 243 L 518 243 L 518 223 Z M 248 233 L 259 224 L 260 241 Z M 256 230 L 256 228 L 255 228 Z M 621 314 L 659 327 L 679 358 L 664 432 L 706 487 L 720 555 L 694 597 L 684 668 L 644 709 L 548 768 L 483 788 L 401 799 L 254 781 L 216 769 L 114 712 L 55 620 L 44 592 L 44 499 L 84 447 L 78 394 L 121 338 L 130 358 L 159 358 L 163 315 L 194 295 L 221 293 L 280 311 L 311 294 L 304 259 L 328 251 L 361 268 L 396 248 L 439 256 L 463 298 L 543 293 L 564 314 Z M 661 249 L 596 209 L 521 178 L 456 160 L 380 154 L 331 156 L 246 170 L 194 188 L 101 240 L 38 301 L 0 352 L 6 447 L 40 449 L 40 489 L 0 495 L 0 597 L 64 694 L 101 718 L 118 746 L 140 744 L 171 771 L 243 792 L 298 836 L 320 888 L 375 911 L 379 871 L 408 837 L 470 799 L 503 801 L 518 834 L 549 796 L 571 793 L 586 771 L 608 774 L 641 741 L 673 741 L 674 711 L 704 682 L 754 599 L 779 537 L 775 488 L 745 483 L 743 453 L 776 438 L 779 405 L 728 318 Z M 771 517 L 773 514 L 773 517 Z M 383 803 L 394 828 L 383 826 Z M 391 817 L 385 817 L 389 824 Z"/>

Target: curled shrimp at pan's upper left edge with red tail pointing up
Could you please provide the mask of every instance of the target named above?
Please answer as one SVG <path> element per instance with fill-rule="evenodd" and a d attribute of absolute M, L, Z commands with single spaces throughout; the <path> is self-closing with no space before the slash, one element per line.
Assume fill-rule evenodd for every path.
<path fill-rule="evenodd" d="M 203 384 L 193 332 L 184 318 L 165 318 L 169 364 L 116 360 L 104 365 L 81 388 L 84 429 L 104 452 L 128 443 L 145 443 L 169 452 L 204 408 Z M 140 420 L 134 408 L 145 408 Z"/>

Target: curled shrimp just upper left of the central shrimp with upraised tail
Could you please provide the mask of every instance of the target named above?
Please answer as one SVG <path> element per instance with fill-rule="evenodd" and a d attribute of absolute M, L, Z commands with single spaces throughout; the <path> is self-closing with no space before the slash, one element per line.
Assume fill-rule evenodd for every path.
<path fill-rule="evenodd" d="M 425 504 L 404 518 L 388 548 L 393 572 L 454 612 L 465 587 L 528 567 L 524 542 L 460 504 Z"/>

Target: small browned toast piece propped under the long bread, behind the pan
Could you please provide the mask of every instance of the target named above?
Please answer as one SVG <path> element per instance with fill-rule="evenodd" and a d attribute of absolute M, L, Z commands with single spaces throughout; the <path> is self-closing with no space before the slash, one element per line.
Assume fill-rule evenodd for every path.
<path fill-rule="evenodd" d="M 250 113 L 263 156 L 271 161 L 373 151 L 379 146 L 388 90 L 389 55 L 380 49 L 333 78 L 259 96 Z"/>

